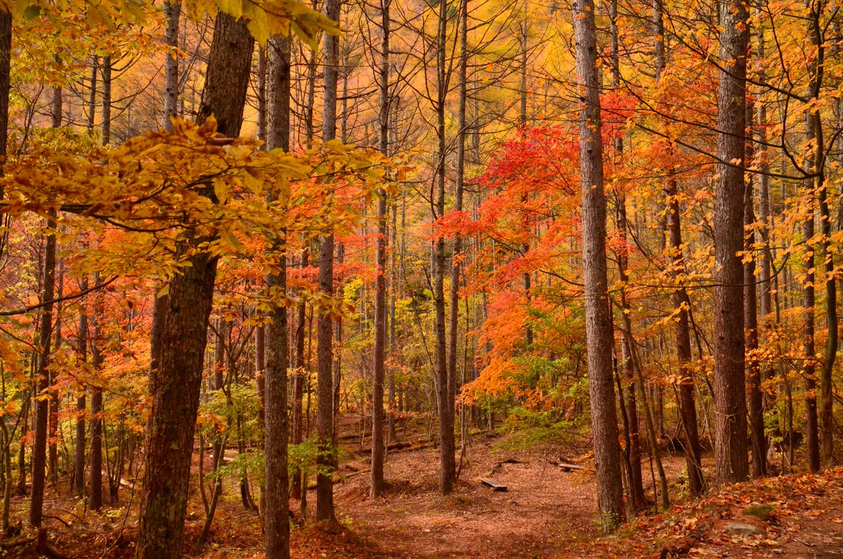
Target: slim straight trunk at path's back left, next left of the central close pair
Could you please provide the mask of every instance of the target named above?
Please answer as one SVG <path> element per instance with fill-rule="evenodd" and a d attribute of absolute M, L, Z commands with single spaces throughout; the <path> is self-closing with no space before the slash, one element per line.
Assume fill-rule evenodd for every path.
<path fill-rule="evenodd" d="M 380 0 L 380 110 L 378 148 L 389 155 L 389 4 Z M 374 348 L 372 379 L 372 475 L 370 497 L 384 491 L 384 381 L 386 361 L 386 190 L 378 191 L 378 243 L 375 251 Z"/>

